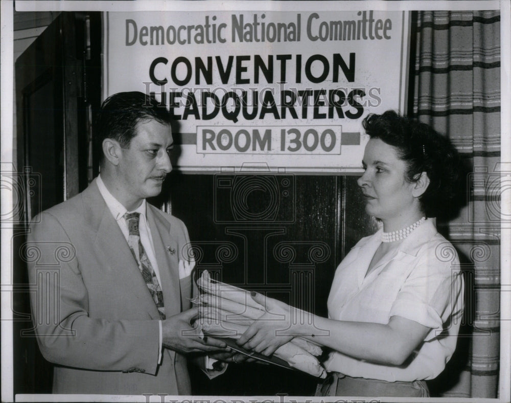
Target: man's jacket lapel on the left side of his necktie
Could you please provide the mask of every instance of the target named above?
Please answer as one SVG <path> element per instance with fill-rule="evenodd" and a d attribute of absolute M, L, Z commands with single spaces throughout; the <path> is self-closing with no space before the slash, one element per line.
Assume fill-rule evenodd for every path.
<path fill-rule="evenodd" d="M 156 305 L 129 249 L 128 242 L 106 206 L 96 182 L 92 182 L 82 194 L 85 206 L 91 206 L 86 212 L 89 215 L 87 222 L 94 227 L 94 253 L 101 256 L 99 260 L 104 262 L 102 269 L 111 271 L 112 277 L 118 279 L 115 286 L 122 287 L 126 293 L 129 293 L 138 302 L 138 306 L 147 310 L 152 319 L 159 319 Z"/>

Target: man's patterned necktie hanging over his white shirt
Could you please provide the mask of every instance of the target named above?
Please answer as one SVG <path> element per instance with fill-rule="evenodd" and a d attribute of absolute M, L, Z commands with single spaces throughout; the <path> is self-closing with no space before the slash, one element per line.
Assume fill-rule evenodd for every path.
<path fill-rule="evenodd" d="M 140 233 L 138 232 L 138 222 L 140 221 L 140 213 L 126 213 L 124 215 L 126 218 L 126 223 L 128 224 L 129 236 L 128 236 L 128 245 L 131 249 L 131 253 L 133 253 L 133 257 L 135 258 L 138 268 L 142 273 L 142 277 L 147 284 L 147 288 L 149 288 L 149 292 L 151 293 L 151 297 L 153 298 L 156 307 L 158 308 L 158 312 L 160 314 L 161 319 L 165 319 L 165 307 L 163 305 L 163 293 L 161 291 L 161 287 L 158 283 L 158 278 L 154 273 L 153 267 L 149 258 L 147 257 L 147 253 L 142 246 L 142 242 L 140 241 Z"/>

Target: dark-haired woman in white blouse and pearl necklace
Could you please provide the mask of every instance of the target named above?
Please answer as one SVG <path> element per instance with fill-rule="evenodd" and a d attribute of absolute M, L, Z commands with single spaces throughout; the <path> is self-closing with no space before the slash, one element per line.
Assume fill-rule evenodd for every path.
<path fill-rule="evenodd" d="M 363 125 L 370 140 L 358 185 L 380 230 L 337 268 L 329 318 L 296 323 L 291 318 L 303 316 L 295 308 L 255 294 L 267 313 L 238 343 L 271 355 L 301 336 L 331 349 L 319 395 L 424 397 L 425 380 L 454 352 L 460 324 L 458 258 L 432 219 L 454 197 L 459 160 L 445 137 L 393 111 Z"/>

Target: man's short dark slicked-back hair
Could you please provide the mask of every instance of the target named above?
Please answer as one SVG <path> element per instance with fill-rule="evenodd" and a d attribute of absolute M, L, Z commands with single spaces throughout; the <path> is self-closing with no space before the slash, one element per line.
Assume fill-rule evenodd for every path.
<path fill-rule="evenodd" d="M 129 148 L 131 139 L 136 136 L 138 122 L 155 120 L 161 124 L 171 124 L 169 111 L 154 96 L 132 91 L 109 96 L 96 117 L 95 138 L 99 155 L 103 160 L 102 143 L 114 139 L 121 147 Z"/>

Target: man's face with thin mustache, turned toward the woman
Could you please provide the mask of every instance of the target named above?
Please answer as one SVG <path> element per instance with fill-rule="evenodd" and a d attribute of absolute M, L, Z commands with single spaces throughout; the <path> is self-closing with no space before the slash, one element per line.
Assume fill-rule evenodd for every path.
<path fill-rule="evenodd" d="M 121 149 L 118 165 L 118 180 L 126 193 L 128 210 L 161 192 L 161 185 L 172 170 L 169 156 L 172 146 L 169 125 L 152 119 L 137 123 L 136 135 L 129 148 Z"/>

